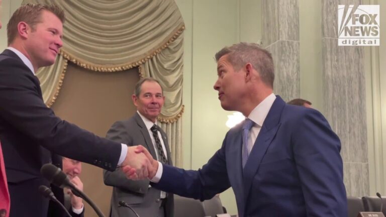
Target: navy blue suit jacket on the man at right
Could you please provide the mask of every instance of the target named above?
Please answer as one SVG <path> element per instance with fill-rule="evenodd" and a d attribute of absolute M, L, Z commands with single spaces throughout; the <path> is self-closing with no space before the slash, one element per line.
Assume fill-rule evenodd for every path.
<path fill-rule="evenodd" d="M 153 187 L 209 199 L 229 187 L 243 216 L 347 216 L 340 140 L 318 111 L 275 99 L 242 168 L 242 125 L 202 169 L 163 165 Z"/>

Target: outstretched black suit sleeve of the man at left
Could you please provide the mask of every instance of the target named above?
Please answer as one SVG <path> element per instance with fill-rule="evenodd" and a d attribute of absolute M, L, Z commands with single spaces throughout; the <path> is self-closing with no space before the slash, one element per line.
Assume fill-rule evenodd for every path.
<path fill-rule="evenodd" d="M 116 168 L 121 145 L 56 117 L 44 104 L 38 79 L 20 59 L 1 60 L 0 101 L 0 117 L 37 144 L 61 156 Z"/>

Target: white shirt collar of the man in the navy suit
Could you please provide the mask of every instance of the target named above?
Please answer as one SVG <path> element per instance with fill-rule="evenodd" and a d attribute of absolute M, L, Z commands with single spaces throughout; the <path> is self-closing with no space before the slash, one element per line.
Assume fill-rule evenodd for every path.
<path fill-rule="evenodd" d="M 253 108 L 251 114 L 249 114 L 248 119 L 252 120 L 258 126 L 263 126 L 264 120 L 268 115 L 269 110 L 272 107 L 273 102 L 275 101 L 275 94 L 269 94 L 264 100 L 262 100 L 255 108 Z"/>

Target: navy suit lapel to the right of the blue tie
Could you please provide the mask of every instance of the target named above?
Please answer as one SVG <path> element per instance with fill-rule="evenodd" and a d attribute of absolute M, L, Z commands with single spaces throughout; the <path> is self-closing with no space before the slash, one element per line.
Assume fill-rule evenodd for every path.
<path fill-rule="evenodd" d="M 280 116 L 284 105 L 285 102 L 280 96 L 276 96 L 245 164 L 243 169 L 244 201 L 247 201 L 253 177 L 259 169 L 261 160 L 280 128 Z"/>

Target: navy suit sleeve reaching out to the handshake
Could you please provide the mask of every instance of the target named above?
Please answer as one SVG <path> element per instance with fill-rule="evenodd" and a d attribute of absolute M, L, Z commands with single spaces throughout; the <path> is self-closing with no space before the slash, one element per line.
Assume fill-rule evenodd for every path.
<path fill-rule="evenodd" d="M 228 135 L 228 134 L 227 134 Z M 152 187 L 200 200 L 212 198 L 223 192 L 231 185 L 226 166 L 225 144 L 218 150 L 208 163 L 199 170 L 184 170 L 162 164 L 163 171 L 158 183 L 151 183 Z"/>

